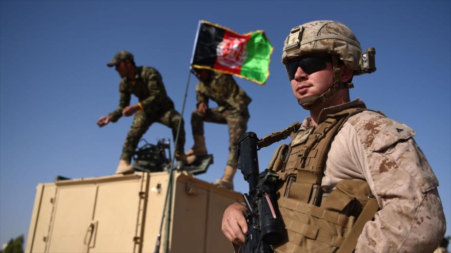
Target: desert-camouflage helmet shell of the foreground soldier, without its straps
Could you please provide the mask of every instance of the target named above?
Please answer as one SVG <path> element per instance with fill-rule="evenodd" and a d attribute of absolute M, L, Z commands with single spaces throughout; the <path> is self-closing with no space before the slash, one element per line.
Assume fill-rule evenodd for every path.
<path fill-rule="evenodd" d="M 362 49 L 354 33 L 344 24 L 318 20 L 291 29 L 283 44 L 282 63 L 309 54 L 336 54 L 344 64 L 360 71 Z"/>

